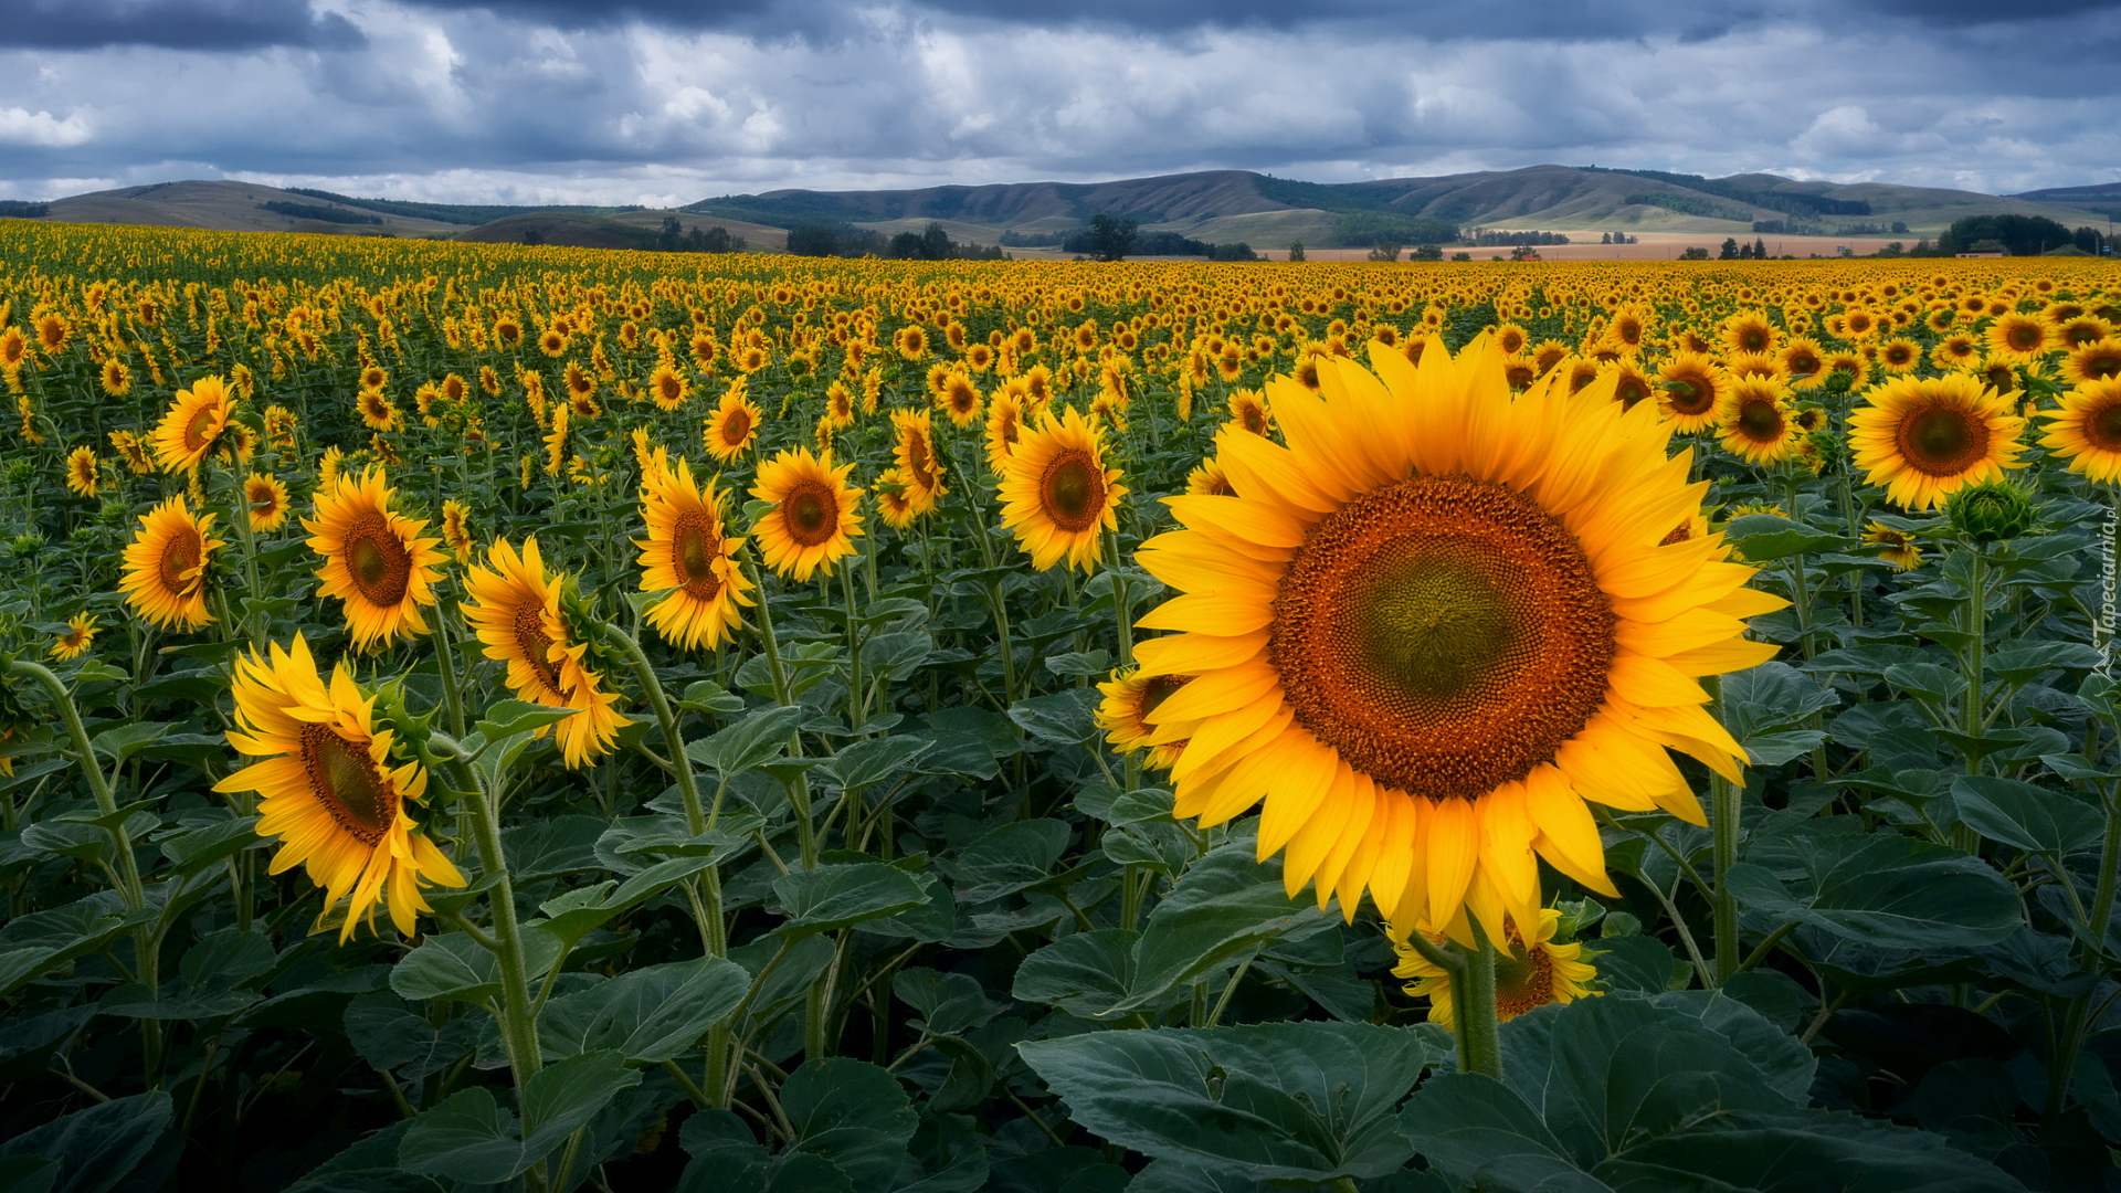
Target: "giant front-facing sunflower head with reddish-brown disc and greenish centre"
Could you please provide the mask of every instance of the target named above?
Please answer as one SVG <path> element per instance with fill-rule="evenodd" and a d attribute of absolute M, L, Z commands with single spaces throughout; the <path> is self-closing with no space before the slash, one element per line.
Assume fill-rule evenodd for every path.
<path fill-rule="evenodd" d="M 1512 399 L 1476 340 L 1377 376 L 1277 378 L 1287 439 L 1224 435 L 1234 497 L 1173 497 L 1186 526 L 1139 560 L 1184 592 L 1141 618 L 1143 675 L 1194 675 L 1154 713 L 1188 741 L 1177 813 L 1226 822 L 1264 796 L 1260 855 L 1345 913 L 1364 892 L 1404 938 L 1536 932 L 1538 858 L 1612 892 L 1584 798 L 1703 822 L 1680 749 L 1739 777 L 1697 675 L 1775 647 L 1741 618 L 1720 535 L 1661 541 L 1701 507 L 1671 425 L 1559 369 Z"/>

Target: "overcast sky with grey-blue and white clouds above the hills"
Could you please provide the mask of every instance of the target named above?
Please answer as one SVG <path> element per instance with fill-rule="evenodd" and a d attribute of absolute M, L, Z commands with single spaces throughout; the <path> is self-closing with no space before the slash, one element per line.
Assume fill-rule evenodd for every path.
<path fill-rule="evenodd" d="M 0 0 L 0 197 L 1542 161 L 2009 193 L 2121 180 L 2117 62 L 2113 0 Z"/>

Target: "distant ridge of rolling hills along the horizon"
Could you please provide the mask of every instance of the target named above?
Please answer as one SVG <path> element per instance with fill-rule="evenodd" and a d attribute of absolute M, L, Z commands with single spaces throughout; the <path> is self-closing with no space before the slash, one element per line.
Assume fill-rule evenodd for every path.
<path fill-rule="evenodd" d="M 1050 242 L 1094 214 L 1135 219 L 1150 231 L 1175 231 L 1211 244 L 1362 246 L 1383 240 L 1421 244 L 1472 229 L 1680 231 L 1699 236 L 1936 236 L 1968 214 L 2034 214 L 2068 227 L 2121 214 L 2121 183 L 2049 187 L 1983 195 L 1890 183 L 1805 183 L 1780 174 L 1705 178 L 1665 170 L 1606 166 L 1527 166 L 1436 178 L 1307 183 L 1251 170 L 1200 170 L 1109 183 L 991 183 L 897 191 L 778 189 L 719 195 L 677 212 L 624 206 L 426 204 L 363 200 L 320 189 L 278 189 L 233 180 L 182 180 L 68 195 L 47 204 L 8 204 L 0 217 L 70 223 L 144 223 L 238 231 L 335 231 L 354 236 L 431 236 L 513 240 L 528 217 L 573 217 L 545 231 L 611 240 L 619 221 L 651 234 L 662 219 L 691 227 L 725 225 L 753 246 L 776 248 L 787 231 L 823 225 L 884 236 L 942 223 L 959 242 Z M 547 221 L 549 223 L 549 221 Z M 547 240 L 560 244 L 564 240 Z"/>

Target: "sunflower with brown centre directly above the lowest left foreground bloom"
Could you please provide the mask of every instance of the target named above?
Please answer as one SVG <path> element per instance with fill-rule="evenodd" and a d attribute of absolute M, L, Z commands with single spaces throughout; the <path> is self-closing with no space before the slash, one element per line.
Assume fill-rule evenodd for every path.
<path fill-rule="evenodd" d="M 316 594 L 346 603 L 354 650 L 424 635 L 420 605 L 435 603 L 435 565 L 443 560 L 435 543 L 441 539 L 422 539 L 426 522 L 392 514 L 395 497 L 380 467 L 358 478 L 341 473 L 318 488 L 316 516 L 301 520 L 310 550 L 325 556 Z"/>

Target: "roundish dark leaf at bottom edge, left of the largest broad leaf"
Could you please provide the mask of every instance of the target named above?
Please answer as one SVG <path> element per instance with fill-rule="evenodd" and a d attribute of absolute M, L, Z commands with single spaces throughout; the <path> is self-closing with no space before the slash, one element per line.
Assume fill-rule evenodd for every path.
<path fill-rule="evenodd" d="M 795 1127 L 789 1151 L 831 1161 L 857 1193 L 891 1189 L 921 1125 L 889 1072 L 844 1057 L 806 1061 L 791 1072 L 781 1085 L 781 1108 Z"/>

